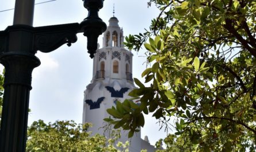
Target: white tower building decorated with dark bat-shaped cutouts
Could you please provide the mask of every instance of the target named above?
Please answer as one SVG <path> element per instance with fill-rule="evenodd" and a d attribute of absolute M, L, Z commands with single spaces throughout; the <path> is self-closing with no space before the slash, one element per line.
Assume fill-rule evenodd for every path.
<path fill-rule="evenodd" d="M 109 26 L 103 37 L 103 47 L 98 48 L 93 59 L 93 79 L 87 85 L 83 100 L 83 123 L 93 123 L 90 131 L 93 134 L 103 134 L 101 128 L 104 118 L 109 114 L 106 109 L 115 106 L 116 100 L 123 102 L 129 99 L 130 92 L 135 85 L 132 79 L 132 52 L 125 49 L 123 45 L 123 29 L 119 27 L 116 17 L 109 20 Z M 122 132 L 120 141 L 128 141 L 128 132 Z M 148 139 L 142 140 L 140 132 L 132 139 L 129 151 L 137 152 L 147 149 L 148 152 L 155 151 Z"/>

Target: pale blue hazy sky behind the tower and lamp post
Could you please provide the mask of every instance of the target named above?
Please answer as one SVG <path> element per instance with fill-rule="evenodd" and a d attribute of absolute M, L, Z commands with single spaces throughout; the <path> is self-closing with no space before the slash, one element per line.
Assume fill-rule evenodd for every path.
<path fill-rule="evenodd" d="M 47 0 L 36 0 L 36 3 Z M 119 26 L 123 27 L 124 36 L 138 34 L 148 29 L 151 19 L 157 17 L 159 11 L 155 6 L 147 7 L 149 0 L 105 0 L 100 10 L 100 18 L 108 25 L 113 16 L 113 3 L 115 17 Z M 0 0 L 0 11 L 13 9 L 14 0 Z M 13 24 L 14 10 L 0 12 L 0 30 Z M 47 26 L 82 22 L 87 16 L 82 0 L 56 0 L 35 6 L 33 26 Z M 56 120 L 75 120 L 82 123 L 83 91 L 86 89 L 93 75 L 93 60 L 90 59 L 86 49 L 86 37 L 77 34 L 78 41 L 71 47 L 63 45 L 54 52 L 37 52 L 41 65 L 34 69 L 32 74 L 32 91 L 28 124 L 42 119 L 45 122 Z M 102 46 L 102 36 L 98 38 Z M 133 51 L 133 77 L 144 81 L 141 73 L 146 68 L 145 50 Z M 142 138 L 145 135 L 151 144 L 158 139 L 165 138 L 166 132 L 159 131 L 155 118 L 145 116 L 146 123 L 142 128 Z"/>

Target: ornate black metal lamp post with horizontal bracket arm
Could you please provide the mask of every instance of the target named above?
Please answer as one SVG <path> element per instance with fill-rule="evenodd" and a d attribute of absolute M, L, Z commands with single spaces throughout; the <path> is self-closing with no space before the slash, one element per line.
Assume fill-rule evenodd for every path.
<path fill-rule="evenodd" d="M 36 27 L 33 23 L 35 0 L 16 0 L 14 25 L 0 32 L 0 63 L 5 67 L 5 93 L 0 130 L 0 152 L 24 152 L 28 125 L 29 92 L 32 71 L 40 65 L 37 50 L 51 52 L 77 41 L 77 33 L 87 37 L 87 49 L 94 57 L 97 39 L 106 30 L 98 17 L 104 0 L 83 0 L 89 11 L 81 24 Z"/>

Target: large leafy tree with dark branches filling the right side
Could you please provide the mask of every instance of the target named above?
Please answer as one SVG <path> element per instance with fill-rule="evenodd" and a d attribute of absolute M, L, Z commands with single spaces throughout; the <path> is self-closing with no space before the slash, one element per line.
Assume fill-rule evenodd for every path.
<path fill-rule="evenodd" d="M 149 30 L 125 38 L 129 49 L 148 50 L 145 86 L 108 110 L 114 127 L 144 125 L 143 114 L 185 135 L 198 151 L 256 149 L 256 2 L 151 0 L 161 13 Z M 152 66 L 151 66 L 152 65 Z"/>

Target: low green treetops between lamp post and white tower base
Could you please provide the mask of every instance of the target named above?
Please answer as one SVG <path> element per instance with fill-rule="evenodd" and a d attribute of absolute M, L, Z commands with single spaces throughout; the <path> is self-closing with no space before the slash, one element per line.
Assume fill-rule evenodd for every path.
<path fill-rule="evenodd" d="M 76 124 L 74 121 L 56 121 L 45 124 L 43 120 L 33 122 L 28 128 L 26 151 L 128 151 L 129 142 L 115 142 L 120 132 L 113 131 L 113 138 L 106 139 L 96 134 L 90 136 L 88 128 L 91 124 Z"/>

